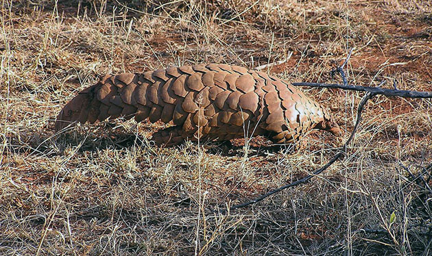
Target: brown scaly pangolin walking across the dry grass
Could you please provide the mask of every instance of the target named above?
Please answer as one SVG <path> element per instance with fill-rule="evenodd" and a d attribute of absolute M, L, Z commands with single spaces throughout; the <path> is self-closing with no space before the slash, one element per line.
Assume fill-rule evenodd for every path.
<path fill-rule="evenodd" d="M 241 66 L 197 64 L 106 75 L 67 103 L 59 131 L 76 122 L 134 117 L 172 121 L 153 134 L 156 144 L 267 136 L 277 144 L 298 142 L 310 129 L 341 135 L 328 110 L 272 75 Z"/>

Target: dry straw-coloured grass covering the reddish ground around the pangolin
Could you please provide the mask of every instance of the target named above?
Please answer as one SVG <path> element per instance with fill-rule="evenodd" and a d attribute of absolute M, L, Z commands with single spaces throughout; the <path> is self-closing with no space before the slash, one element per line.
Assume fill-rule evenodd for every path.
<path fill-rule="evenodd" d="M 313 132 L 296 153 L 164 149 L 146 139 L 160 124 L 53 131 L 62 105 L 99 75 L 174 64 L 253 68 L 292 52 L 268 72 L 330 81 L 356 47 L 353 83 L 430 91 L 429 1 L 52 2 L 2 2 L 1 255 L 431 254 L 431 192 L 399 166 L 418 173 L 432 162 L 430 100 L 376 97 L 348 157 L 230 214 L 209 213 L 306 175 L 340 141 Z M 305 90 L 350 131 L 361 93 Z"/>

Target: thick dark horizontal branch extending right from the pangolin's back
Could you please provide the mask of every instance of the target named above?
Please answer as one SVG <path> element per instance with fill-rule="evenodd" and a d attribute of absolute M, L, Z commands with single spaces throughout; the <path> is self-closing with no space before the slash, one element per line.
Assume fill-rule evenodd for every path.
<path fill-rule="evenodd" d="M 382 94 L 387 97 L 403 97 L 403 98 L 420 98 L 431 99 L 432 92 L 417 92 L 414 90 L 393 90 L 369 86 L 354 86 L 344 84 L 322 84 L 322 83 L 292 83 L 293 86 L 311 86 L 320 88 L 339 88 L 344 90 L 357 90 L 360 92 L 371 92 L 373 94 Z"/>

